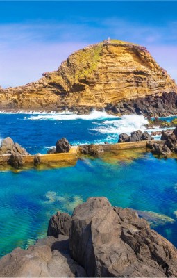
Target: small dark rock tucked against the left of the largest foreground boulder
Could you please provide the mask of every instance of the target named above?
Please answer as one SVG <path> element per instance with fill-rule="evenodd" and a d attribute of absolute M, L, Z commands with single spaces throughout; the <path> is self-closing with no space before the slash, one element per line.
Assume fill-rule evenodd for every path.
<path fill-rule="evenodd" d="M 69 236 L 69 229 L 71 227 L 71 216 L 67 213 L 56 213 L 49 220 L 47 236 L 54 236 L 58 238 L 59 234 Z"/>

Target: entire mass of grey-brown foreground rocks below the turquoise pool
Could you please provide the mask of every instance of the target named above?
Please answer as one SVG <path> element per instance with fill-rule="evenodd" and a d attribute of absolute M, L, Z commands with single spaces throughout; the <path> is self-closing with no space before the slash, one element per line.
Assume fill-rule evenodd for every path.
<path fill-rule="evenodd" d="M 177 277 L 177 250 L 136 211 L 90 197 L 53 215 L 47 238 L 3 256 L 0 277 Z"/>

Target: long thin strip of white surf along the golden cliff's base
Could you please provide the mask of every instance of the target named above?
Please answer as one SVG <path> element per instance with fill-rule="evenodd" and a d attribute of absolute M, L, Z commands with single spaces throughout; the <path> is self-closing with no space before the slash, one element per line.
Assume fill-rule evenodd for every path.
<path fill-rule="evenodd" d="M 37 115 L 31 116 L 28 120 L 55 120 L 55 121 L 63 121 L 63 120 L 104 120 L 104 119 L 118 119 L 118 117 L 109 115 L 106 112 L 101 111 L 92 111 L 92 113 L 87 115 L 77 115 L 71 112 L 58 113 L 56 115 Z"/>

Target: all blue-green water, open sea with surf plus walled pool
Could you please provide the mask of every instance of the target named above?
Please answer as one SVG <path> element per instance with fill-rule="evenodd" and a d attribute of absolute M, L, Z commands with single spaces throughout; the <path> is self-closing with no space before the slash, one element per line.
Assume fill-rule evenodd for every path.
<path fill-rule="evenodd" d="M 0 138 L 10 136 L 31 154 L 44 154 L 62 136 L 73 145 L 117 142 L 119 133 L 145 130 L 146 122 L 142 116 L 119 118 L 95 111 L 91 115 L 3 113 Z M 177 247 L 176 170 L 176 158 L 158 159 L 144 150 L 83 157 L 71 167 L 0 170 L 0 255 L 46 236 L 53 213 L 71 214 L 90 196 L 106 196 L 114 206 L 145 211 L 153 229 Z"/>

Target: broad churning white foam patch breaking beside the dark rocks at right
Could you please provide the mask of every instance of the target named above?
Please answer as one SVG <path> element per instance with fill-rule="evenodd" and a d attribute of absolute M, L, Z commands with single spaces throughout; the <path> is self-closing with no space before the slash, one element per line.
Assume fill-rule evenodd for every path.
<path fill-rule="evenodd" d="M 146 127 L 144 124 L 148 124 L 148 120 L 146 120 L 142 115 L 124 115 L 117 120 L 106 120 L 103 122 L 103 126 L 98 126 L 92 130 L 105 134 L 130 134 L 138 129 L 145 131 Z"/>

